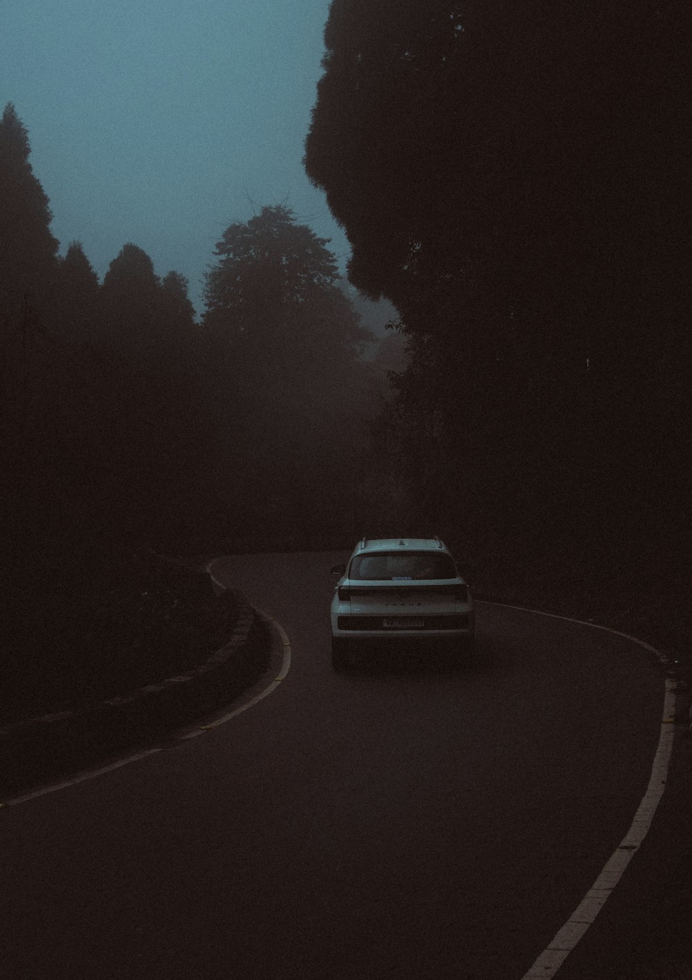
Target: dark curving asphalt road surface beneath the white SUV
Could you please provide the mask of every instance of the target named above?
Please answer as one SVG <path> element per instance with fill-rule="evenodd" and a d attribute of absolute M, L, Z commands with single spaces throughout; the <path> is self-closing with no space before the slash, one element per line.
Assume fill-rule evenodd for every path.
<path fill-rule="evenodd" d="M 659 668 L 617 636 L 480 605 L 469 670 L 335 674 L 339 560 L 220 561 L 285 628 L 287 678 L 201 737 L 0 812 L 3 978 L 529 968 L 644 794 Z"/>

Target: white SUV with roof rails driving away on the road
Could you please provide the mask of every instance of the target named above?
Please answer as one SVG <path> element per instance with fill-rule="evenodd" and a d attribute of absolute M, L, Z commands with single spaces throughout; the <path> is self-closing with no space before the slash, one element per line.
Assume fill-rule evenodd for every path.
<path fill-rule="evenodd" d="M 449 550 L 439 538 L 364 538 L 340 575 L 331 601 L 331 662 L 349 665 L 349 649 L 366 639 L 425 639 L 473 646 L 473 601 Z"/>

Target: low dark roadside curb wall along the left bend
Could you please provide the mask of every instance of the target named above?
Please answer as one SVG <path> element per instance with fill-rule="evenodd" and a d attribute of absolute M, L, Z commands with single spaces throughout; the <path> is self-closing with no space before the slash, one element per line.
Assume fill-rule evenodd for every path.
<path fill-rule="evenodd" d="M 164 739 L 250 687 L 268 665 L 267 626 L 238 590 L 219 599 L 237 603 L 238 613 L 227 641 L 199 665 L 83 709 L 0 728 L 0 795 Z"/>

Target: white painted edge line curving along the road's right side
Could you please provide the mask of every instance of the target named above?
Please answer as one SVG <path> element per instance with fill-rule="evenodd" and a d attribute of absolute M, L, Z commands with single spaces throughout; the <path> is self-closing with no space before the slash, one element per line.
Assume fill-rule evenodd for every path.
<path fill-rule="evenodd" d="M 638 640 L 635 636 L 630 636 L 628 633 L 621 633 L 617 629 L 611 629 L 608 626 L 601 626 L 593 622 L 584 622 L 583 619 L 573 619 L 566 615 L 543 613 L 541 610 L 531 610 L 524 606 L 510 606 L 508 603 L 488 603 L 487 605 L 504 606 L 505 609 L 521 610 L 525 613 L 537 613 L 538 615 L 545 615 L 552 619 L 565 619 L 567 622 L 576 622 L 582 626 L 590 626 L 592 629 L 602 629 L 607 633 L 622 636 L 626 640 L 630 640 L 632 643 L 643 647 L 645 650 L 654 654 L 659 662 L 668 662 L 667 658 L 650 644 L 645 643 L 643 640 Z M 523 974 L 521 980 L 538 980 L 538 978 L 540 980 L 551 980 L 551 977 L 555 976 L 586 930 L 593 924 L 608 898 L 613 894 L 624 869 L 637 853 L 642 841 L 649 832 L 652 820 L 654 819 L 654 813 L 666 789 L 667 771 L 672 752 L 672 743 L 675 737 L 675 690 L 675 681 L 667 679 L 664 712 L 661 720 L 661 733 L 651 767 L 649 785 L 634 814 L 629 830 L 619 842 L 612 856 L 606 861 L 596 881 L 571 913 L 568 921 L 556 933 L 543 953 L 535 959 L 530 969 Z"/>

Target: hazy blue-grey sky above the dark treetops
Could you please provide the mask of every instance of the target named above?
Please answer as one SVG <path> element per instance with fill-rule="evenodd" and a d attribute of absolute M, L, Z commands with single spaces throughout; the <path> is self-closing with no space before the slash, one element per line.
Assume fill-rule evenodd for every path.
<path fill-rule="evenodd" d="M 303 171 L 328 0 L 3 0 L 0 112 L 14 102 L 64 254 L 103 276 L 125 242 L 200 282 L 231 221 L 285 202 L 343 268 Z M 253 202 L 253 203 L 251 203 Z"/>

